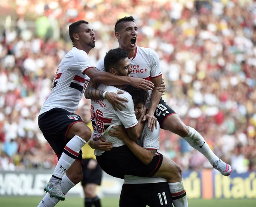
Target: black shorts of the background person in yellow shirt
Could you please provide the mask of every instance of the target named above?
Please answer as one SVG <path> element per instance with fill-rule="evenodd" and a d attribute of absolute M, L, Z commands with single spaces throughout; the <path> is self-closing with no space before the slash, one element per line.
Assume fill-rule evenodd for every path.
<path fill-rule="evenodd" d="M 87 165 L 91 159 L 83 159 L 84 167 L 82 168 L 83 179 L 81 181 L 82 186 L 87 184 L 101 184 L 102 180 L 102 169 L 99 164 L 96 165 L 95 169 L 91 170 L 87 168 Z"/>

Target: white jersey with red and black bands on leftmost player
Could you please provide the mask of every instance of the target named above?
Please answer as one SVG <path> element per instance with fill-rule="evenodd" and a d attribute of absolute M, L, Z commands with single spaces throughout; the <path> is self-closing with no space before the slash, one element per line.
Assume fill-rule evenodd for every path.
<path fill-rule="evenodd" d="M 53 108 L 75 112 L 90 80 L 84 72 L 92 67 L 95 66 L 87 53 L 73 47 L 58 66 L 50 95 L 41 107 L 40 114 Z"/>

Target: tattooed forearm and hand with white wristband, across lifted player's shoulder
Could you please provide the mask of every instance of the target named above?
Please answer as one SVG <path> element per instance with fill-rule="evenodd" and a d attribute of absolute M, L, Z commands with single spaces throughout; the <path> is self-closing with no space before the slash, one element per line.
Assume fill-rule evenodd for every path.
<path fill-rule="evenodd" d="M 124 92 L 120 90 L 120 91 L 117 91 L 117 94 L 114 92 L 105 93 L 105 91 L 99 90 L 97 89 L 97 87 L 98 86 L 96 85 L 96 83 L 93 82 L 93 80 L 90 80 L 84 91 L 84 97 L 90 100 L 106 98 L 108 102 L 111 103 L 114 110 L 119 109 L 122 111 L 121 106 L 126 107 L 125 103 L 123 103 L 122 101 L 128 102 L 128 100 L 126 98 L 121 98 L 117 95 L 117 94 L 122 94 Z M 104 93 L 105 93 L 105 97 L 103 97 Z"/>

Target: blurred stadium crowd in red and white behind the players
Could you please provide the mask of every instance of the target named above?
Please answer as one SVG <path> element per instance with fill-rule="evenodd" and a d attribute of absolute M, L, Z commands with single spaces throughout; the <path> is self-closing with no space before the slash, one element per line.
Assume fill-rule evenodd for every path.
<path fill-rule="evenodd" d="M 234 171 L 256 170 L 256 3 L 16 0 L 16 5 L 16 26 L 6 20 L 0 35 L 0 170 L 55 166 L 37 120 L 58 63 L 72 47 L 68 26 L 89 21 L 96 32 L 89 56 L 96 64 L 118 46 L 114 23 L 125 15 L 136 19 L 137 44 L 160 57 L 169 106 Z M 35 17 L 34 26 L 25 11 Z M 160 147 L 183 170 L 212 167 L 171 132 L 161 130 Z"/>

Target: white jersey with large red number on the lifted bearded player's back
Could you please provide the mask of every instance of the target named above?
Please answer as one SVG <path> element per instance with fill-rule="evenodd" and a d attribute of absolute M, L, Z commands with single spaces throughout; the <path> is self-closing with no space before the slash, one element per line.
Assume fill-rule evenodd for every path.
<path fill-rule="evenodd" d="M 106 86 L 103 84 L 99 85 L 98 89 L 104 91 L 119 90 L 115 86 Z M 118 94 L 118 96 L 127 98 L 129 101 L 128 103 L 125 103 L 127 106 L 126 108 L 122 107 L 122 111 L 115 111 L 113 106 L 105 98 L 91 101 L 91 121 L 93 124 L 93 134 L 91 139 L 97 141 L 104 137 L 107 142 L 113 144 L 113 147 L 120 147 L 125 145 L 125 143 L 108 134 L 112 126 L 123 125 L 125 129 L 131 129 L 138 124 L 131 95 L 128 92 L 124 92 L 123 94 Z M 104 151 L 95 150 L 94 154 L 102 155 L 103 152 Z"/>

